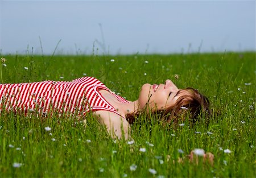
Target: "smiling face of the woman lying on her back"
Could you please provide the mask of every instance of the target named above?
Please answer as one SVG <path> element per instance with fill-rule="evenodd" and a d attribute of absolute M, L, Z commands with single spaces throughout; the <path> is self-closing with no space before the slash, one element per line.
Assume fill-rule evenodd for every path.
<path fill-rule="evenodd" d="M 171 80 L 159 85 L 144 84 L 139 94 L 139 107 L 142 109 L 148 103 L 152 111 L 166 109 L 174 105 L 177 98 L 182 96 L 184 92 L 179 90 Z"/>

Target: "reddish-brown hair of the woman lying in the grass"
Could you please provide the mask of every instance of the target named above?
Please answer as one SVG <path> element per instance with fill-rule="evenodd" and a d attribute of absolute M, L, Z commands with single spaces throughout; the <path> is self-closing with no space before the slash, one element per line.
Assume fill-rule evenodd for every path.
<path fill-rule="evenodd" d="M 177 94 L 181 91 L 187 91 L 183 96 L 180 96 L 174 105 L 167 107 L 164 110 L 154 111 L 155 114 L 159 114 L 162 121 L 167 123 L 177 123 L 179 119 L 184 120 L 188 115 L 189 120 L 195 123 L 200 114 L 205 114 L 206 117 L 209 116 L 209 100 L 203 94 L 199 93 L 198 90 L 193 88 L 185 88 L 179 90 Z M 126 114 L 126 120 L 131 124 L 135 121 L 140 114 L 144 113 L 145 110 L 139 110 L 135 113 Z"/>

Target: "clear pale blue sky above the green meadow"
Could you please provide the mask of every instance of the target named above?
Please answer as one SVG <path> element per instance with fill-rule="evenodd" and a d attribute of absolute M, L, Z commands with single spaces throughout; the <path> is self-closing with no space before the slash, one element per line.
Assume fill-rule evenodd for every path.
<path fill-rule="evenodd" d="M 0 49 L 51 55 L 255 51 L 255 1 L 5 1 Z"/>

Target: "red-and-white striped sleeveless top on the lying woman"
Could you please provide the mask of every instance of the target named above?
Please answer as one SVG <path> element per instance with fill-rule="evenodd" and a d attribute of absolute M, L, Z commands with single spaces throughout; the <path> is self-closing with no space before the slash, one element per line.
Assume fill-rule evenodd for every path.
<path fill-rule="evenodd" d="M 23 113 L 52 112 L 84 115 L 88 111 L 106 110 L 120 115 L 98 92 L 108 90 L 118 101 L 128 103 L 93 77 L 81 77 L 73 81 L 42 81 L 0 85 L 0 110 Z"/>

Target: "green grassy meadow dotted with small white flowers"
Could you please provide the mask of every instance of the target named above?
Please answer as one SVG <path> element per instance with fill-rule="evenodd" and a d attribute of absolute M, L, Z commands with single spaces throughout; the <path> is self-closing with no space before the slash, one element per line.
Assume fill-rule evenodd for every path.
<path fill-rule="evenodd" d="M 133 101 L 144 83 L 170 78 L 179 88 L 199 89 L 212 109 L 209 122 L 201 118 L 193 127 L 141 115 L 131 126 L 133 140 L 110 138 L 92 114 L 85 127 L 65 116 L 2 111 L 0 177 L 255 177 L 255 52 L 0 57 L 3 83 L 93 76 Z M 213 165 L 200 156 L 189 162 L 195 148 L 212 152 Z"/>

